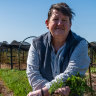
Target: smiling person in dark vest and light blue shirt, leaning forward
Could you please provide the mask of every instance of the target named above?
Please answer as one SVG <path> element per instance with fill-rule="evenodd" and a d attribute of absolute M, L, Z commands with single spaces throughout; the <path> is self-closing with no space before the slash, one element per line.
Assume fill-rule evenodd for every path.
<path fill-rule="evenodd" d="M 74 13 L 66 3 L 53 4 L 46 26 L 49 32 L 33 40 L 27 60 L 27 76 L 33 92 L 28 96 L 49 96 L 48 89 L 57 79 L 65 81 L 89 67 L 87 41 L 71 31 Z M 68 96 L 68 86 L 56 90 Z"/>

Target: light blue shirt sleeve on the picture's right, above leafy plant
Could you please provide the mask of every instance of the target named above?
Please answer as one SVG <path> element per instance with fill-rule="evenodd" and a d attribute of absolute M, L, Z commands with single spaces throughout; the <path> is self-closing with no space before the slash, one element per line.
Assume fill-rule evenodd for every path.
<path fill-rule="evenodd" d="M 50 85 L 57 79 L 63 78 L 65 81 L 69 76 L 75 75 L 77 72 L 84 75 L 89 67 L 89 64 L 90 58 L 88 56 L 88 43 L 86 40 L 82 40 L 73 51 L 66 70 L 57 75 L 51 82 L 46 83 L 46 87 L 50 88 Z"/>

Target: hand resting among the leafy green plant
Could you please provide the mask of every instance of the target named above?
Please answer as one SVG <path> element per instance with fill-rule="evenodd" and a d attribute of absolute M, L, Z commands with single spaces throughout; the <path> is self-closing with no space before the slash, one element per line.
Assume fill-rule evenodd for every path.
<path fill-rule="evenodd" d="M 65 86 L 63 88 L 58 88 L 55 93 L 60 94 L 61 96 L 69 96 L 70 88 L 69 86 Z"/>

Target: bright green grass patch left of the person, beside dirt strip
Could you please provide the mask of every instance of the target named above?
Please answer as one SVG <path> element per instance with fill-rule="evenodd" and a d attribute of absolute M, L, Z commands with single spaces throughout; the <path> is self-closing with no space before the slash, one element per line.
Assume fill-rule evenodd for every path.
<path fill-rule="evenodd" d="M 6 86 L 13 91 L 14 96 L 26 96 L 32 90 L 25 70 L 0 69 L 0 77 Z"/>

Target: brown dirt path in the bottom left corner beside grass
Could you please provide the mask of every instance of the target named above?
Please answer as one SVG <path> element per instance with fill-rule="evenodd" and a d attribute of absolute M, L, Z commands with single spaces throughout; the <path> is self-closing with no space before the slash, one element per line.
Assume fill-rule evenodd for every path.
<path fill-rule="evenodd" d="M 2 79 L 0 78 L 0 94 L 2 94 L 3 96 L 13 96 L 13 92 L 10 91 L 4 84 L 4 82 L 2 81 Z"/>

